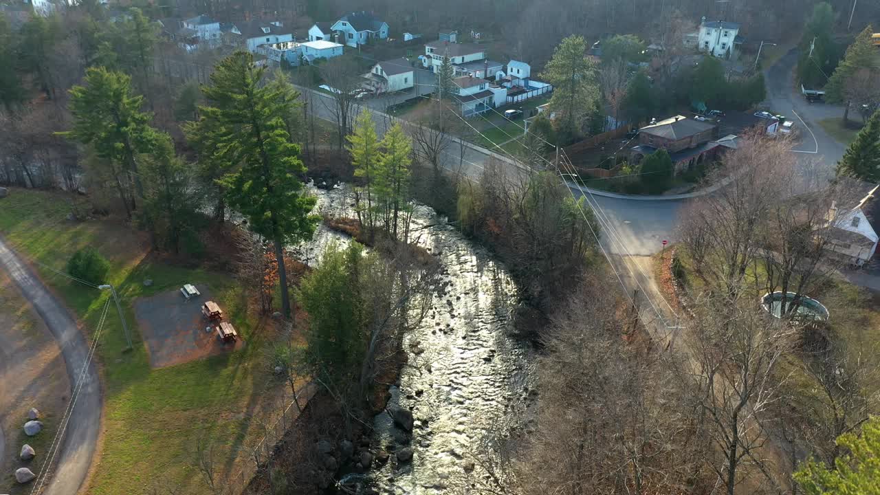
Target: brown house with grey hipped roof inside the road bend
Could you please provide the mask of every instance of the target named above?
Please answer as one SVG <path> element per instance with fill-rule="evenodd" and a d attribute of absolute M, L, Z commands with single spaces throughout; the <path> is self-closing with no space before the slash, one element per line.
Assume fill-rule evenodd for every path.
<path fill-rule="evenodd" d="M 713 141 L 717 129 L 715 122 L 689 119 L 683 115 L 652 122 L 639 129 L 639 144 L 630 151 L 630 161 L 637 164 L 663 149 L 669 153 L 675 164 L 675 173 L 679 174 L 717 152 L 722 146 Z"/>

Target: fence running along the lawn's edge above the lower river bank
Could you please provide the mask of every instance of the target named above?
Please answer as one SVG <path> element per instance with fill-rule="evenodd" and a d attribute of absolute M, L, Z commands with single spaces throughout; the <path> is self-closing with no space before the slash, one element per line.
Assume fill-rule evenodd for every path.
<path fill-rule="evenodd" d="M 253 448 L 246 447 L 248 448 L 247 454 L 250 457 L 250 462 L 246 462 L 238 473 L 232 474 L 222 482 L 225 484 L 224 495 L 240 495 L 245 491 L 247 484 L 251 483 L 253 475 L 260 469 L 260 465 L 271 458 L 275 444 L 282 440 L 288 428 L 296 422 L 297 417 L 302 412 L 302 408 L 312 400 L 312 395 L 315 395 L 316 390 L 317 386 L 310 382 L 297 390 L 296 397 L 287 394 L 279 397 L 279 401 L 287 404 L 282 407 L 281 417 L 272 425 L 262 425 L 265 429 L 263 437 L 257 441 Z M 287 402 L 288 400 L 290 400 L 290 403 Z M 297 403 L 299 404 L 298 407 Z"/>

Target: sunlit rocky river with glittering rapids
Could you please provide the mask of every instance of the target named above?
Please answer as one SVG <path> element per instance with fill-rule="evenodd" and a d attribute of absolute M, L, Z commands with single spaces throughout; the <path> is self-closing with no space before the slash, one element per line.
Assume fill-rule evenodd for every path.
<path fill-rule="evenodd" d="M 348 211 L 343 190 L 315 194 L 319 211 Z M 423 351 L 410 351 L 388 404 L 413 411 L 413 432 L 408 438 L 387 412 L 379 414 L 371 449 L 385 448 L 390 460 L 344 480 L 361 492 L 368 487 L 387 494 L 466 492 L 474 477 L 485 474 L 480 462 L 467 472 L 474 455 L 503 440 L 526 416 L 532 351 L 512 335 L 517 286 L 503 265 L 428 207 L 416 207 L 413 228 L 417 242 L 440 262 L 444 287 L 422 324 L 405 337 L 404 349 Z M 315 262 L 334 240 L 346 238 L 322 226 L 300 253 Z M 398 462 L 393 450 L 402 447 L 412 448 L 412 462 Z"/>

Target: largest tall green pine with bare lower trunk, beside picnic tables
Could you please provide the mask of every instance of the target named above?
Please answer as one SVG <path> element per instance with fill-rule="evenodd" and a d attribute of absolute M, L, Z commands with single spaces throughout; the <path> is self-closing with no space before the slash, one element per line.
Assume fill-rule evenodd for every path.
<path fill-rule="evenodd" d="M 299 146 L 281 115 L 293 111 L 275 85 L 263 85 L 265 70 L 253 55 L 238 51 L 216 65 L 211 85 L 202 88 L 208 104 L 195 132 L 204 149 L 235 168 L 221 180 L 227 201 L 249 228 L 275 245 L 281 283 L 282 313 L 290 317 L 290 291 L 284 264 L 286 243 L 309 239 L 318 218 L 311 214 L 315 199 L 304 195 Z M 285 107 L 286 105 L 286 107 Z"/>

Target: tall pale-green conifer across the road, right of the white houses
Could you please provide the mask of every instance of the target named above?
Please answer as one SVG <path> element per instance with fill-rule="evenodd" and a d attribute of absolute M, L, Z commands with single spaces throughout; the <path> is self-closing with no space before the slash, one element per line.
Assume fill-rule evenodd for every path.
<path fill-rule="evenodd" d="M 561 133 L 569 137 L 580 134 L 584 117 L 599 97 L 595 63 L 586 58 L 586 52 L 583 36 L 568 36 L 554 49 L 553 58 L 541 73 L 554 86 L 549 110 L 556 114 Z"/>

